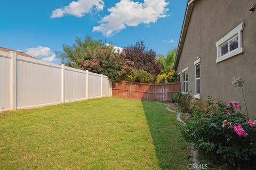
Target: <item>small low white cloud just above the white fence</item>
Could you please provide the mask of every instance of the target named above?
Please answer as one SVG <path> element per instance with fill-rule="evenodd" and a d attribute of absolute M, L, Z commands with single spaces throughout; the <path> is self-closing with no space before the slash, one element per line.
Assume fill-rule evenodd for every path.
<path fill-rule="evenodd" d="M 56 55 L 51 51 L 50 47 L 37 46 L 35 48 L 27 48 L 25 53 L 38 59 L 43 57 L 41 60 L 46 62 L 53 62 L 56 60 Z"/>

